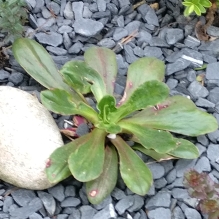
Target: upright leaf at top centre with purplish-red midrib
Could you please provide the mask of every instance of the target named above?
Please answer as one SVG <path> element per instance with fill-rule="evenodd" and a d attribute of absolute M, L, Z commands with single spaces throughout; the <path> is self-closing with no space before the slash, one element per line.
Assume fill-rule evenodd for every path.
<path fill-rule="evenodd" d="M 90 47 L 84 54 L 85 62 L 96 70 L 104 81 L 101 87 L 102 95 L 97 99 L 99 102 L 105 95 L 113 95 L 114 84 L 117 75 L 117 61 L 115 53 L 107 48 Z M 95 88 L 96 89 L 96 88 Z"/>

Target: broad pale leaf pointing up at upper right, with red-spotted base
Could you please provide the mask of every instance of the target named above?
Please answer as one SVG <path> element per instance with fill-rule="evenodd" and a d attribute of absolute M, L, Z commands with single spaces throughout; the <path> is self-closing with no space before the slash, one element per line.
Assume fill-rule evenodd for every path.
<path fill-rule="evenodd" d="M 163 81 L 164 74 L 165 65 L 157 58 L 146 57 L 133 62 L 128 68 L 126 87 L 120 105 L 126 102 L 132 93 L 146 81 Z"/>

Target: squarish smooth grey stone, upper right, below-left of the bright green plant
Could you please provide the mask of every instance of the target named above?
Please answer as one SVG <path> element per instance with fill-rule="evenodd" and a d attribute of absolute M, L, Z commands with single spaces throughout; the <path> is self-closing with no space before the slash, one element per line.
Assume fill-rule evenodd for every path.
<path fill-rule="evenodd" d="M 183 30 L 179 28 L 168 28 L 166 32 L 166 41 L 169 45 L 174 45 L 184 38 Z"/>

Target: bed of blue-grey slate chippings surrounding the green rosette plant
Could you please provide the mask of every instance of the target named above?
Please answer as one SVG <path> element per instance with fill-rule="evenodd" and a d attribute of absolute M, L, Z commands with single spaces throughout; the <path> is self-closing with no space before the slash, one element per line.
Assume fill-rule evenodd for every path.
<path fill-rule="evenodd" d="M 27 0 L 30 26 L 26 32 L 45 46 L 60 67 L 71 59 L 82 59 L 92 45 L 116 52 L 118 78 L 115 92 L 122 95 L 127 66 L 140 57 L 154 56 L 166 64 L 165 82 L 171 95 L 189 96 L 204 111 L 219 121 L 219 39 L 200 42 L 194 33 L 196 16 L 186 19 L 180 0 L 160 0 L 159 9 L 143 4 L 133 10 L 131 0 Z M 153 0 L 147 1 L 154 3 Z M 52 14 L 51 14 L 52 12 Z M 53 16 L 52 16 L 53 15 Z M 35 29 L 37 31 L 35 31 Z M 131 42 L 120 41 L 134 32 Z M 210 28 L 219 35 L 218 28 Z M 194 70 L 207 63 L 206 70 Z M 19 87 L 39 95 L 42 89 L 10 56 L 13 72 L 0 70 L 1 85 Z M 204 86 L 197 80 L 204 74 Z M 92 101 L 90 99 L 90 101 Z M 66 116 L 53 114 L 60 128 Z M 188 124 L 189 125 L 189 124 Z M 83 134 L 87 127 L 78 132 Z M 219 179 L 219 131 L 193 138 L 200 150 L 196 160 L 151 162 L 154 185 L 141 197 L 126 188 L 122 180 L 112 194 L 99 205 L 91 205 L 82 183 L 72 178 L 45 191 L 14 188 L 0 183 L 0 219 L 201 219 L 207 218 L 195 207 L 196 199 L 188 196 L 182 185 L 189 168 L 207 171 Z"/>

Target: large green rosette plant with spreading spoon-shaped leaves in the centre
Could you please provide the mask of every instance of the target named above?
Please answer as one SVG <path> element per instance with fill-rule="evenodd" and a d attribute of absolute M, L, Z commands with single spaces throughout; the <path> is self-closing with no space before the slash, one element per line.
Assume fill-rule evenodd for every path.
<path fill-rule="evenodd" d="M 124 95 L 116 101 L 117 62 L 110 49 L 90 47 L 84 61 L 69 61 L 60 71 L 34 40 L 17 39 L 12 50 L 27 73 L 48 89 L 41 92 L 48 110 L 79 115 L 92 124 L 88 134 L 55 150 L 46 165 L 51 182 L 70 175 L 85 182 L 91 203 L 100 203 L 111 193 L 119 171 L 131 191 L 139 195 L 148 192 L 152 173 L 135 150 L 157 161 L 197 158 L 196 146 L 171 132 L 197 136 L 218 127 L 212 115 L 197 109 L 188 98 L 169 97 L 162 82 L 165 65 L 156 58 L 140 58 L 129 66 Z M 96 109 L 86 102 L 90 92 Z M 135 142 L 132 147 L 124 134 Z"/>

